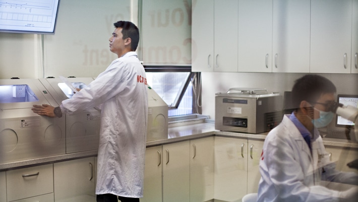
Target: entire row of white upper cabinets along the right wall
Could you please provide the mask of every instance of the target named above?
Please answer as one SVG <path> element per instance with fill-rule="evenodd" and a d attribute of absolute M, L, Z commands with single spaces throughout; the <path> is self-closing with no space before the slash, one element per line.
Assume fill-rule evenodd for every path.
<path fill-rule="evenodd" d="M 192 69 L 358 73 L 358 0 L 197 0 Z"/>

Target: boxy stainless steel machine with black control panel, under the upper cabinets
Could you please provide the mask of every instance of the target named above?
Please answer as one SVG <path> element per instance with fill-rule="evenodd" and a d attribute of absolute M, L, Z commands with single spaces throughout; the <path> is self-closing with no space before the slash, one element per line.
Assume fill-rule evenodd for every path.
<path fill-rule="evenodd" d="M 282 96 L 266 89 L 230 88 L 215 94 L 215 129 L 268 132 L 282 120 Z"/>

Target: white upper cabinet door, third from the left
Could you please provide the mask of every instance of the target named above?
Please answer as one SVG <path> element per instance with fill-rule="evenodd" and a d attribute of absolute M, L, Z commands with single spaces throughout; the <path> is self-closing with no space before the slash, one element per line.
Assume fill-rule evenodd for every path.
<path fill-rule="evenodd" d="M 238 1 L 238 71 L 272 71 L 272 0 Z"/>

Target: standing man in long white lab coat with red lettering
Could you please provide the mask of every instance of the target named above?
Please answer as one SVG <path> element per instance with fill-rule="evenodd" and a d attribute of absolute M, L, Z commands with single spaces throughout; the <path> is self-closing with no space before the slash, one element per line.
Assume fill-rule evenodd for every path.
<path fill-rule="evenodd" d="M 60 107 L 33 106 L 34 113 L 61 117 L 101 106 L 97 164 L 97 202 L 137 202 L 143 197 L 148 94 L 143 66 L 135 53 L 139 30 L 114 23 L 109 49 L 118 56 L 86 88 Z M 118 199 L 117 199 L 118 197 Z"/>

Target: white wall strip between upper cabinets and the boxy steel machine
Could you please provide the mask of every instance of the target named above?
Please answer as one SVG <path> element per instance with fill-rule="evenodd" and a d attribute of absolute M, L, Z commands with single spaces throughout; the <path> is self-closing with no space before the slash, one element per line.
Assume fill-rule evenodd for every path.
<path fill-rule="evenodd" d="M 232 87 L 266 88 L 271 92 L 290 91 L 294 80 L 304 73 L 202 73 L 202 114 L 215 119 L 215 93 Z M 337 94 L 358 94 L 358 74 L 320 74 L 337 87 Z"/>

